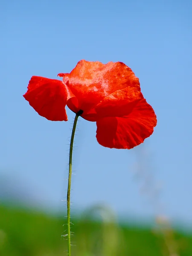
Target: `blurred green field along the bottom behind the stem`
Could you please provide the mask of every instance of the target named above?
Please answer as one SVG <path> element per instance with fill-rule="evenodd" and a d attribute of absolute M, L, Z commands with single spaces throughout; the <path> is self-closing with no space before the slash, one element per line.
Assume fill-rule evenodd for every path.
<path fill-rule="evenodd" d="M 94 212 L 72 218 L 72 256 L 192 256 L 192 234 L 117 224 L 106 214 L 93 221 Z M 0 256 L 67 255 L 64 223 L 62 217 L 1 205 Z"/>

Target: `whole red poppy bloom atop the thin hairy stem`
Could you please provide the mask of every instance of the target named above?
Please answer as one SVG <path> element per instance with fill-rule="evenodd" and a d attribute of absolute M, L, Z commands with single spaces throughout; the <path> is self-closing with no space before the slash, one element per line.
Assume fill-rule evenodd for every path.
<path fill-rule="evenodd" d="M 96 122 L 96 139 L 108 148 L 133 148 L 153 133 L 153 108 L 143 98 L 139 79 L 122 62 L 81 60 L 63 81 L 32 76 L 23 95 L 51 121 L 67 121 L 65 106 Z"/>

